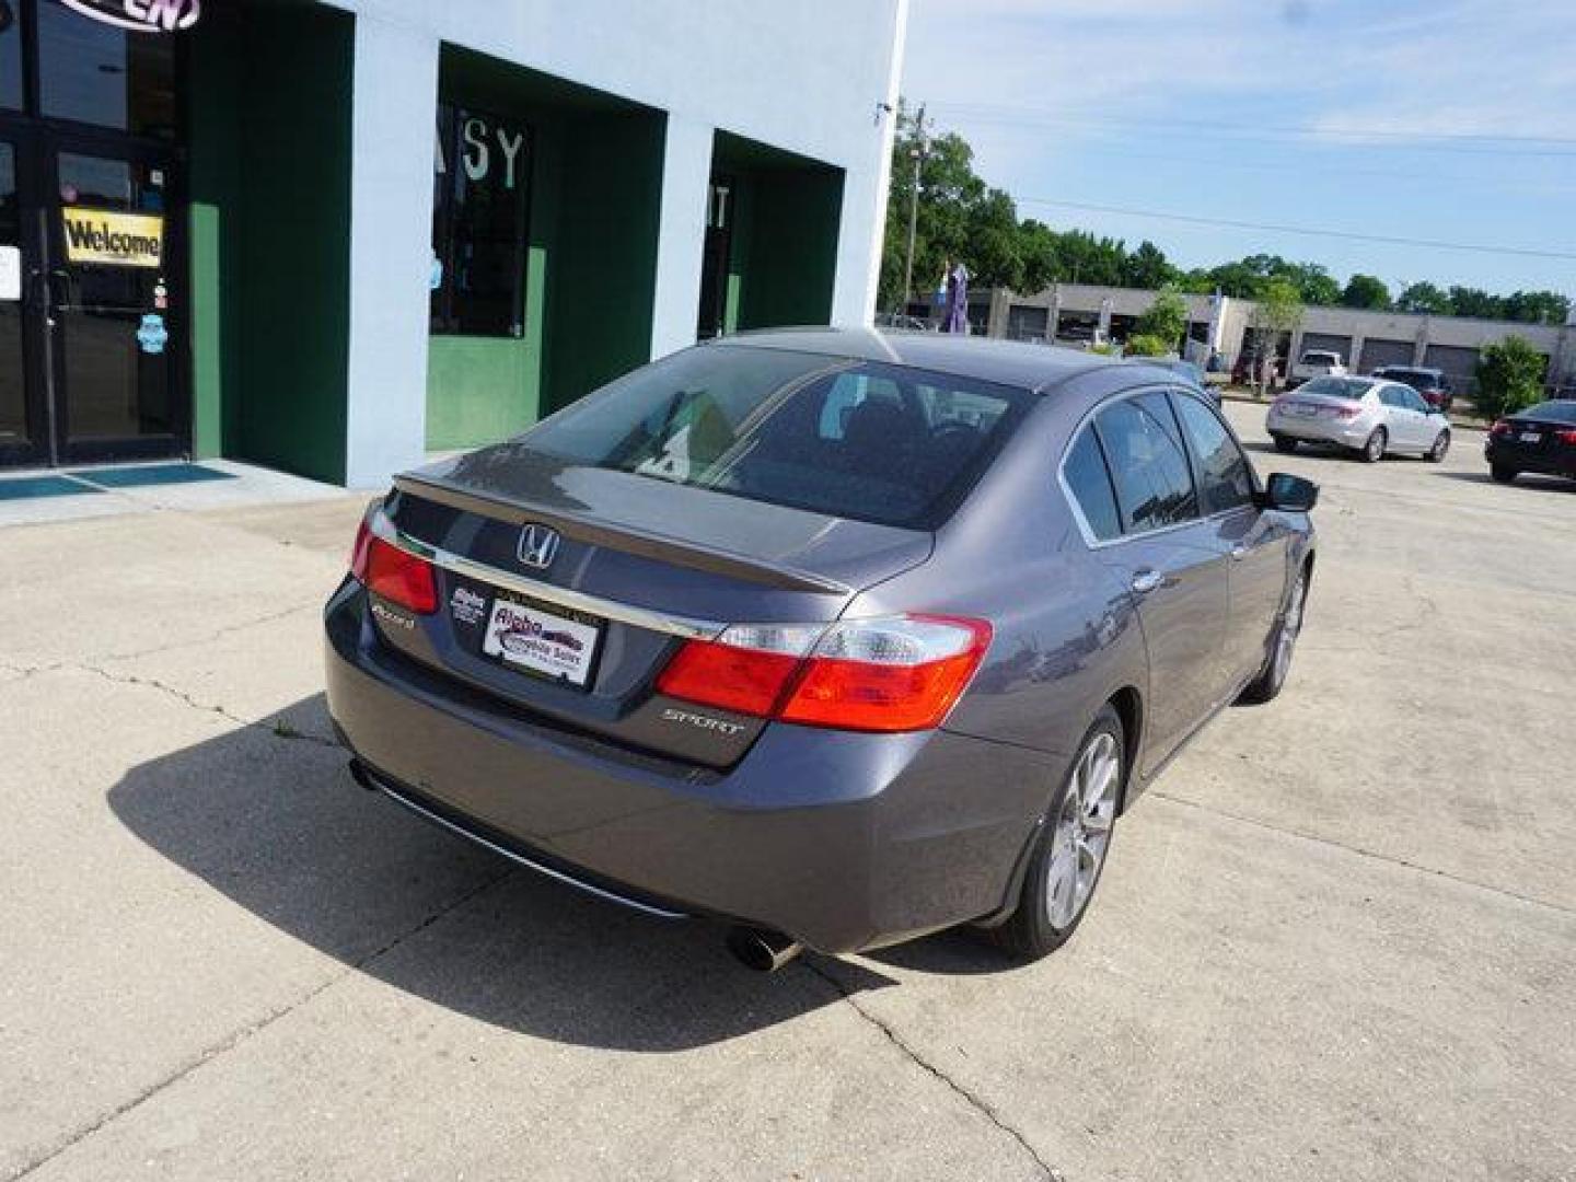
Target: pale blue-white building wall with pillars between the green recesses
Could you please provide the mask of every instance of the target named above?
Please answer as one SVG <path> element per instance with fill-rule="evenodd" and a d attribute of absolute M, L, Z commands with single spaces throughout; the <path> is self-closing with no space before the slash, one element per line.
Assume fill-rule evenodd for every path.
<path fill-rule="evenodd" d="M 356 14 L 350 484 L 421 455 L 441 43 L 668 113 L 652 355 L 692 344 L 711 136 L 843 170 L 835 323 L 868 323 L 908 0 L 329 0 Z"/>

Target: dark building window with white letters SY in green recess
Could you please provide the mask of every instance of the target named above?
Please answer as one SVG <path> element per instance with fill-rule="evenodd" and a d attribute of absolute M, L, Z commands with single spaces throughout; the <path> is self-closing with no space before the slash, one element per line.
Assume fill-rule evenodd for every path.
<path fill-rule="evenodd" d="M 432 203 L 432 331 L 525 333 L 531 129 L 438 106 Z"/>

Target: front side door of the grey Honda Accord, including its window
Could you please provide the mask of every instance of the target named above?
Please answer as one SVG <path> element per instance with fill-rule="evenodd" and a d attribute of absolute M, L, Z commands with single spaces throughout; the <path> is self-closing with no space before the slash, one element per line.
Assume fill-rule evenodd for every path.
<path fill-rule="evenodd" d="M 1258 507 L 1258 476 L 1225 421 L 1185 391 L 1171 396 L 1193 459 L 1206 520 L 1228 564 L 1229 619 L 1225 663 L 1231 690 L 1264 665 L 1269 637 L 1286 597 L 1292 531 L 1286 522 Z"/>

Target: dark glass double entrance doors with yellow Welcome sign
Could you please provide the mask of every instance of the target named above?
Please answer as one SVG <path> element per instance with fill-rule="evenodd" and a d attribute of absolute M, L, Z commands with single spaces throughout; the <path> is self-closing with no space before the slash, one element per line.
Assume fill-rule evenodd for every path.
<path fill-rule="evenodd" d="M 186 451 L 170 169 L 0 125 L 0 465 Z"/>

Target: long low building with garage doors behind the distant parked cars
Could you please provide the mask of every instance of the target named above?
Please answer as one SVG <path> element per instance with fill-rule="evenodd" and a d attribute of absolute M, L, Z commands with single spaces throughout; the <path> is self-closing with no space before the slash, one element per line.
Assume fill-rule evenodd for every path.
<path fill-rule="evenodd" d="M 1157 292 L 1128 287 L 1056 284 L 1032 296 L 1007 288 L 980 292 L 985 331 L 1009 340 L 1045 344 L 1089 344 L 1108 322 L 1110 339 L 1124 342 L 1138 318 L 1149 310 Z M 1254 304 L 1229 296 L 1188 295 L 1188 340 L 1193 359 L 1202 362 L 1210 350 L 1221 355 L 1229 370 L 1243 350 L 1254 347 Z M 1576 326 L 1526 325 L 1513 320 L 1474 317 L 1414 315 L 1409 312 L 1366 312 L 1352 307 L 1307 306 L 1302 325 L 1281 334 L 1277 356 L 1297 358 L 1308 348 L 1338 353 L 1354 374 L 1371 374 L 1379 366 L 1426 366 L 1440 369 L 1466 397 L 1477 386 L 1477 359 L 1485 345 L 1508 336 L 1526 337 L 1548 358 L 1546 385 L 1551 392 L 1576 386 Z"/>

